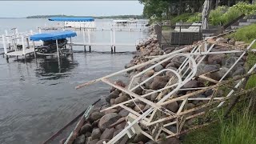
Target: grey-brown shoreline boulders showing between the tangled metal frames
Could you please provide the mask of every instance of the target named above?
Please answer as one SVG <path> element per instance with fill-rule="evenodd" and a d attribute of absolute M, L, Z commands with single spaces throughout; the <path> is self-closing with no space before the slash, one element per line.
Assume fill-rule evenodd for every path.
<path fill-rule="evenodd" d="M 239 46 L 239 47 L 246 47 L 245 42 L 235 42 L 234 38 L 218 38 L 216 41 L 227 43 L 233 46 Z M 143 62 L 147 62 L 149 60 L 149 57 L 152 56 L 158 56 L 162 54 L 169 54 L 175 50 L 179 50 L 184 46 L 181 47 L 170 47 L 166 48 L 165 50 L 161 50 L 158 39 L 155 34 L 150 34 L 149 38 L 146 38 L 138 47 L 137 47 L 137 53 L 134 55 L 133 59 L 130 61 L 130 63 L 126 64 L 125 68 L 129 68 L 131 66 L 138 65 Z M 222 47 L 222 46 L 214 46 L 214 48 L 211 51 L 227 51 L 228 48 Z M 197 75 L 204 74 L 206 72 L 210 72 L 212 70 L 218 70 L 214 73 L 210 73 L 209 77 L 218 81 L 224 74 L 226 74 L 227 70 L 229 70 L 230 66 L 236 62 L 238 57 L 240 56 L 240 53 L 235 54 L 212 54 L 208 55 L 204 61 L 198 66 Z M 245 74 L 246 73 L 246 55 L 242 58 L 240 62 L 238 62 L 237 66 L 234 67 L 234 69 L 231 70 L 231 72 L 227 75 L 226 78 L 234 78 L 238 75 Z M 173 69 L 178 70 L 178 67 L 181 66 L 182 62 L 184 61 L 183 58 L 172 58 L 170 61 L 164 62 L 159 66 L 154 67 L 154 70 L 149 70 L 146 72 L 146 74 L 143 74 L 142 77 L 136 78 L 134 83 L 137 82 L 143 82 L 146 80 L 146 78 L 150 78 L 153 74 L 157 73 L 160 70 L 163 69 Z M 153 66 L 154 63 L 151 63 L 147 66 L 132 70 L 128 72 L 128 75 L 130 78 L 134 76 L 134 74 L 138 74 L 142 70 L 145 70 L 146 68 Z M 220 69 L 220 70 L 219 70 Z M 152 80 L 146 82 L 143 87 L 147 90 L 159 90 L 166 86 L 166 83 L 169 81 L 172 74 L 166 72 L 162 75 L 155 76 Z M 122 81 L 115 82 L 116 85 L 126 87 L 127 83 L 124 83 Z M 190 82 L 187 82 L 183 88 L 196 88 L 201 86 L 210 85 L 205 80 L 198 78 L 193 79 Z M 180 97 L 184 94 L 190 94 L 194 92 L 194 90 L 187 90 L 183 91 L 182 93 L 176 94 L 176 98 Z M 134 90 L 135 94 L 141 95 L 141 94 L 147 94 L 148 91 L 143 90 L 141 87 L 138 87 Z M 210 95 L 213 93 L 213 90 L 207 90 L 206 92 L 201 94 L 202 98 L 210 97 Z M 218 95 L 223 95 L 224 91 L 218 90 Z M 156 102 L 158 94 L 151 94 L 149 97 L 146 97 L 148 100 L 152 102 Z M 108 142 L 111 138 L 114 138 L 115 135 L 117 135 L 119 132 L 121 132 L 125 126 L 126 126 L 126 116 L 129 114 L 129 111 L 122 109 L 121 107 L 117 107 L 111 110 L 106 110 L 104 112 L 100 112 L 100 110 L 104 110 L 107 107 L 118 104 L 121 102 L 125 102 L 130 99 L 130 96 L 121 92 L 120 90 L 117 90 L 115 88 L 112 88 L 110 90 L 110 94 L 106 96 L 106 104 L 102 106 L 94 106 L 94 109 L 91 111 L 89 118 L 86 120 L 86 122 L 83 123 L 82 128 L 79 130 L 78 137 L 74 140 L 74 144 L 102 144 L 102 142 L 106 141 Z M 189 101 L 189 108 L 194 108 L 196 106 L 202 106 L 204 102 L 194 100 Z M 178 102 L 172 102 L 170 104 L 167 104 L 165 107 L 167 110 L 170 110 L 174 113 L 178 111 L 178 107 L 181 105 L 181 103 Z M 145 105 L 145 103 L 142 102 L 136 102 L 136 105 L 134 103 L 126 105 L 127 107 L 130 107 L 134 111 L 137 111 L 140 113 L 140 111 L 145 111 L 150 108 L 150 106 Z M 199 113 L 200 110 L 194 111 L 195 114 Z M 201 110 L 202 112 L 202 110 Z M 114 123 L 119 122 L 118 125 L 113 126 Z M 187 121 L 186 124 L 188 126 L 193 124 L 193 119 L 191 121 Z M 112 126 L 111 126 L 112 125 Z M 175 130 L 174 126 L 169 127 L 170 130 Z M 142 128 L 146 131 L 146 129 Z M 64 142 L 64 141 L 62 141 Z M 126 143 L 139 143 L 139 144 L 153 144 L 156 143 L 150 138 L 147 138 L 143 134 L 137 134 L 134 136 L 134 138 L 128 139 Z M 158 143 L 181 143 L 181 141 L 178 138 L 164 138 L 162 142 Z"/>

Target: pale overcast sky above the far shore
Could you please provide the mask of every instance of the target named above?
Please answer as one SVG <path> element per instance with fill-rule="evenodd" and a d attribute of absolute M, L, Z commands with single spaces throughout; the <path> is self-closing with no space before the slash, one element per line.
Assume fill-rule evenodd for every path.
<path fill-rule="evenodd" d="M 30 15 L 123 15 L 142 14 L 138 1 L 0 1 L 0 17 L 26 17 Z"/>

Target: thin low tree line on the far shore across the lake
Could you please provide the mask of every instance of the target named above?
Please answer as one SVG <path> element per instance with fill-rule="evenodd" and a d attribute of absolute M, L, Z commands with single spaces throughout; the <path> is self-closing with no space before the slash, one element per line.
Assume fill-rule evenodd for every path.
<path fill-rule="evenodd" d="M 62 14 L 57 14 L 57 15 L 34 15 L 34 16 L 28 16 L 26 18 L 51 18 L 51 17 L 62 17 L 62 18 L 79 18 L 79 17 L 92 17 L 92 16 L 74 16 L 74 15 L 62 15 Z M 97 17 L 92 17 L 92 18 L 138 18 L 138 19 L 143 19 L 143 15 L 113 15 L 113 16 L 97 16 Z"/>

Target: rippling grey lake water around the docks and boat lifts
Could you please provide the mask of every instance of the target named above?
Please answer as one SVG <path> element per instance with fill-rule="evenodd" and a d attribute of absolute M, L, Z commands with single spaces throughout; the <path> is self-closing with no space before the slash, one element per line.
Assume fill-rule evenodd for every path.
<path fill-rule="evenodd" d="M 18 31 L 34 31 L 46 19 L 0 19 L 0 32 L 17 27 Z M 97 20 L 104 26 L 110 20 Z M 95 31 L 93 42 L 108 42 L 109 32 Z M 80 42 L 81 34 L 74 40 Z M 146 38 L 147 32 L 117 32 L 116 42 L 135 42 Z M 0 46 L 2 47 L 2 46 Z M 1 52 L 3 51 L 0 49 Z M 65 126 L 86 106 L 109 94 L 110 87 L 97 83 L 81 90 L 75 86 L 124 69 L 135 47 L 119 46 L 110 54 L 109 46 L 93 46 L 92 50 L 108 51 L 85 54 L 82 46 L 74 47 L 73 57 L 28 59 L 26 62 L 0 58 L 0 143 L 41 143 Z M 70 131 L 69 131 L 70 132 Z M 66 133 L 68 134 L 68 133 Z M 66 135 L 65 134 L 65 135 Z"/>

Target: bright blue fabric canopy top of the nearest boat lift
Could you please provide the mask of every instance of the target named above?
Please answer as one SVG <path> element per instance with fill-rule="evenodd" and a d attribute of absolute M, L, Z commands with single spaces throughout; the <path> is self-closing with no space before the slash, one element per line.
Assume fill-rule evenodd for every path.
<path fill-rule="evenodd" d="M 55 31 L 51 33 L 42 33 L 42 34 L 34 34 L 30 36 L 30 39 L 33 41 L 49 41 L 63 38 L 71 38 L 75 37 L 77 34 L 74 31 Z"/>

